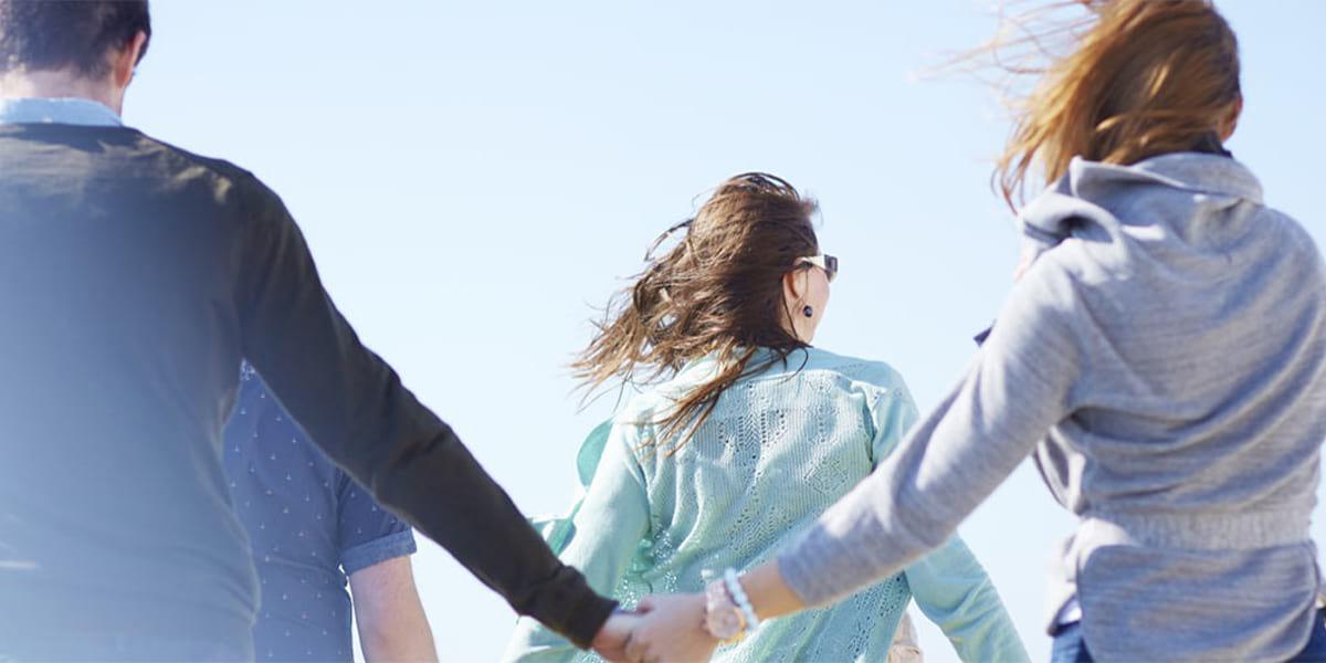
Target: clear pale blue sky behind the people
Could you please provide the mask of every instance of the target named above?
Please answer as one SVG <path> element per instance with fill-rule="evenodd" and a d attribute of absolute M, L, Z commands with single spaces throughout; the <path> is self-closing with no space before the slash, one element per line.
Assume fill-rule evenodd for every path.
<path fill-rule="evenodd" d="M 557 512 L 611 406 L 577 411 L 565 369 L 593 306 L 736 172 L 822 203 L 843 272 L 818 345 L 892 363 L 923 410 L 953 383 L 1016 259 L 988 186 L 1008 123 L 976 81 L 911 74 L 989 37 L 989 5 L 156 0 L 126 119 L 278 191 L 362 338 L 522 509 Z M 1220 7 L 1244 56 L 1231 147 L 1322 241 L 1326 3 Z M 1070 529 L 1030 467 L 961 528 L 1038 660 Z M 505 603 L 431 544 L 416 572 L 443 658 L 493 659 Z"/>

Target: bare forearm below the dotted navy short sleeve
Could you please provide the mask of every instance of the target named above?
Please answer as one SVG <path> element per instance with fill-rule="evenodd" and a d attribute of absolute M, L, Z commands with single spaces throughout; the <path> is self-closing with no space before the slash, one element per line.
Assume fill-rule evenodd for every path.
<path fill-rule="evenodd" d="M 410 557 L 387 560 L 350 574 L 350 599 L 365 660 L 438 660 Z"/>

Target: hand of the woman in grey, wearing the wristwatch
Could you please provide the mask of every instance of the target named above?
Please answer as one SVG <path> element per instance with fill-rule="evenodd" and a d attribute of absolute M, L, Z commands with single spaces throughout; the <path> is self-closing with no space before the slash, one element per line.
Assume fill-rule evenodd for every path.
<path fill-rule="evenodd" d="M 626 660 L 709 660 L 719 646 L 719 640 L 704 630 L 703 594 L 646 597 L 636 611 L 642 617 L 626 644 Z"/>

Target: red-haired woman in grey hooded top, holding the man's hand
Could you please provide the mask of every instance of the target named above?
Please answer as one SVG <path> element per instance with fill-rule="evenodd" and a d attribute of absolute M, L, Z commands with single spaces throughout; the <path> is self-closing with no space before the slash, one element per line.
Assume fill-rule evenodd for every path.
<path fill-rule="evenodd" d="M 1224 149 L 1242 95 L 1212 4 L 1077 4 L 1089 23 L 1059 32 L 1075 48 L 1000 164 L 1009 200 L 1037 171 L 1046 190 L 967 375 L 777 560 L 643 601 L 629 658 L 695 659 L 725 615 L 777 625 L 896 573 L 1034 451 L 1081 518 L 1050 582 L 1054 660 L 1326 660 L 1321 256 Z"/>

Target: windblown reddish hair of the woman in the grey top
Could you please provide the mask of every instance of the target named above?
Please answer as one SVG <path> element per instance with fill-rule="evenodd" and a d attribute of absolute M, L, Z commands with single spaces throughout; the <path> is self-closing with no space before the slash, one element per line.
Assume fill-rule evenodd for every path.
<path fill-rule="evenodd" d="M 1065 9 L 1085 16 L 1062 20 Z M 1037 21 L 1045 16 L 1052 21 Z M 991 49 L 1050 56 L 1045 66 L 998 57 L 1016 74 L 1040 74 L 1016 107 L 1016 126 L 996 167 L 1010 206 L 1029 174 L 1061 178 L 1073 156 L 1131 164 L 1219 146 L 1241 103 L 1238 44 L 1208 0 L 1079 0 L 1013 17 L 1021 36 Z M 1067 54 L 1053 57 L 1055 42 Z"/>

